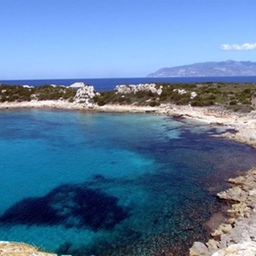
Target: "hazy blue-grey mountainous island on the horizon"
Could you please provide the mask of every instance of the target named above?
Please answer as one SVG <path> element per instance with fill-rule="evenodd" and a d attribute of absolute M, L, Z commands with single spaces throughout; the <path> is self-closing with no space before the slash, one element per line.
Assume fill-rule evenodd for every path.
<path fill-rule="evenodd" d="M 256 62 L 227 60 L 166 67 L 148 77 L 256 76 Z"/>

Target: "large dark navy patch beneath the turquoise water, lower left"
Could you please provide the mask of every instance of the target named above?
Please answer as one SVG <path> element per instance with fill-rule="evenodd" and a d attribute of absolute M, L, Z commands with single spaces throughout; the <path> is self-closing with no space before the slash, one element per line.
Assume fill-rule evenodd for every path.
<path fill-rule="evenodd" d="M 84 185 L 61 185 L 44 197 L 17 202 L 5 211 L 0 222 L 110 230 L 129 216 L 117 203 L 116 197 Z"/>

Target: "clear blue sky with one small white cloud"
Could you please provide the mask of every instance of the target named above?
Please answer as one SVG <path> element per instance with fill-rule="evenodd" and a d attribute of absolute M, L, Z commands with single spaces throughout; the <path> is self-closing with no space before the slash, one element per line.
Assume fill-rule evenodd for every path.
<path fill-rule="evenodd" d="M 256 61 L 255 0 L 0 0 L 0 79 Z"/>

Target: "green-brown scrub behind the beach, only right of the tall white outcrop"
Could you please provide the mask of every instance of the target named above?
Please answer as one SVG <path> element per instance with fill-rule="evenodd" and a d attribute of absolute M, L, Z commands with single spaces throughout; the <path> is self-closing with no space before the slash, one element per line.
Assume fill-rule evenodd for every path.
<path fill-rule="evenodd" d="M 127 85 L 129 86 L 129 85 Z M 161 89 L 161 94 L 157 90 Z M 95 98 L 99 105 L 137 104 L 157 106 L 161 103 L 204 107 L 222 105 L 234 111 L 249 112 L 255 106 L 253 99 L 256 83 L 156 83 L 156 92 L 138 91 L 136 93 L 102 92 Z"/>

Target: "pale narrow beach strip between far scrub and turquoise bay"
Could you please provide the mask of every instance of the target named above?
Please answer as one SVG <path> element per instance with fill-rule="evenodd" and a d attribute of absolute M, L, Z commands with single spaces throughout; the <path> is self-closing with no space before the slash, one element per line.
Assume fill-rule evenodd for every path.
<path fill-rule="evenodd" d="M 71 103 L 63 100 L 45 100 L 29 102 L 4 102 L 0 103 L 0 109 L 16 108 L 53 108 L 95 112 L 120 112 L 120 113 L 156 113 L 174 117 L 185 117 L 199 120 L 208 124 L 214 124 L 234 129 L 236 133 L 225 133 L 227 137 L 242 143 L 256 147 L 256 110 L 250 113 L 236 113 L 223 110 L 221 107 L 191 107 L 177 105 L 161 105 L 159 107 L 136 105 L 104 105 L 93 106 L 80 103 Z"/>

